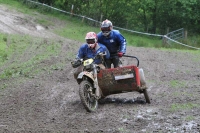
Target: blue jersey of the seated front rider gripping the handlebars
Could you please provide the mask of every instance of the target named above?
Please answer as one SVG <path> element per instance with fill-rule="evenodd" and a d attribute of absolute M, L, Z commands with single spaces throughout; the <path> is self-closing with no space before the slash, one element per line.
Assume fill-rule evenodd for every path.
<path fill-rule="evenodd" d="M 94 58 L 98 53 L 101 52 L 106 52 L 105 58 L 109 59 L 110 58 L 110 53 L 108 49 L 103 45 L 98 43 L 97 49 L 91 49 L 88 47 L 88 44 L 83 44 L 77 54 L 77 58 L 79 59 L 89 59 L 89 58 Z M 101 60 L 100 59 L 95 59 L 95 63 L 100 64 Z"/>

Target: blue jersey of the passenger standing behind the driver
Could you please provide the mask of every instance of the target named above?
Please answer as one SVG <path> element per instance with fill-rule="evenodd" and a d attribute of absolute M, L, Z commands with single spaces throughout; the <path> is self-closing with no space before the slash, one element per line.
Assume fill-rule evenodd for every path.
<path fill-rule="evenodd" d="M 105 45 L 110 56 L 116 56 L 118 52 L 126 53 L 126 39 L 118 30 L 112 30 L 109 37 L 105 37 L 102 32 L 97 34 L 98 42 Z"/>

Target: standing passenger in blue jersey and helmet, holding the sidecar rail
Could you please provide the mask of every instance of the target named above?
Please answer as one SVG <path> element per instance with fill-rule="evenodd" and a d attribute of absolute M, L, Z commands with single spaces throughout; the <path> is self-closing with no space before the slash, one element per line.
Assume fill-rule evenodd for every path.
<path fill-rule="evenodd" d="M 110 58 L 106 60 L 107 67 L 111 68 L 111 64 L 114 68 L 119 67 L 119 57 L 126 53 L 126 39 L 118 30 L 113 30 L 112 22 L 108 19 L 101 23 L 101 32 L 97 37 L 98 42 L 104 44 L 110 52 Z"/>

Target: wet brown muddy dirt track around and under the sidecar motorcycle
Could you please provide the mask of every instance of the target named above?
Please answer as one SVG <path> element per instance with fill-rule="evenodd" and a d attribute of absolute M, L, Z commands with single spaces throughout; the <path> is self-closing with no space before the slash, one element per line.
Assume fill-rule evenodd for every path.
<path fill-rule="evenodd" d="M 58 20 L 57 20 L 58 21 Z M 58 38 L 34 18 L 0 5 L 0 32 Z M 62 38 L 62 50 L 74 41 Z M 73 45 L 79 47 L 81 43 Z M 200 58 L 178 50 L 127 47 L 144 69 L 151 104 L 137 92 L 106 97 L 94 113 L 81 104 L 70 63 L 51 74 L 1 80 L 0 133 L 199 133 Z M 67 58 L 62 52 L 50 65 Z M 22 59 L 23 60 L 23 59 Z M 134 61 L 123 57 L 124 65 Z M 2 70 L 5 66 L 2 66 Z M 24 78 L 24 77 L 22 77 Z M 26 81 L 26 82 L 20 82 Z"/>

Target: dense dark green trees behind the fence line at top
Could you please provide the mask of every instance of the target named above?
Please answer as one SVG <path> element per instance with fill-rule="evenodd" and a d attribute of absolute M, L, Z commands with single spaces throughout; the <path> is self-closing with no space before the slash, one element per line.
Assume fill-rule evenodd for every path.
<path fill-rule="evenodd" d="M 35 0 L 115 26 L 157 34 L 186 28 L 200 32 L 199 0 Z"/>

